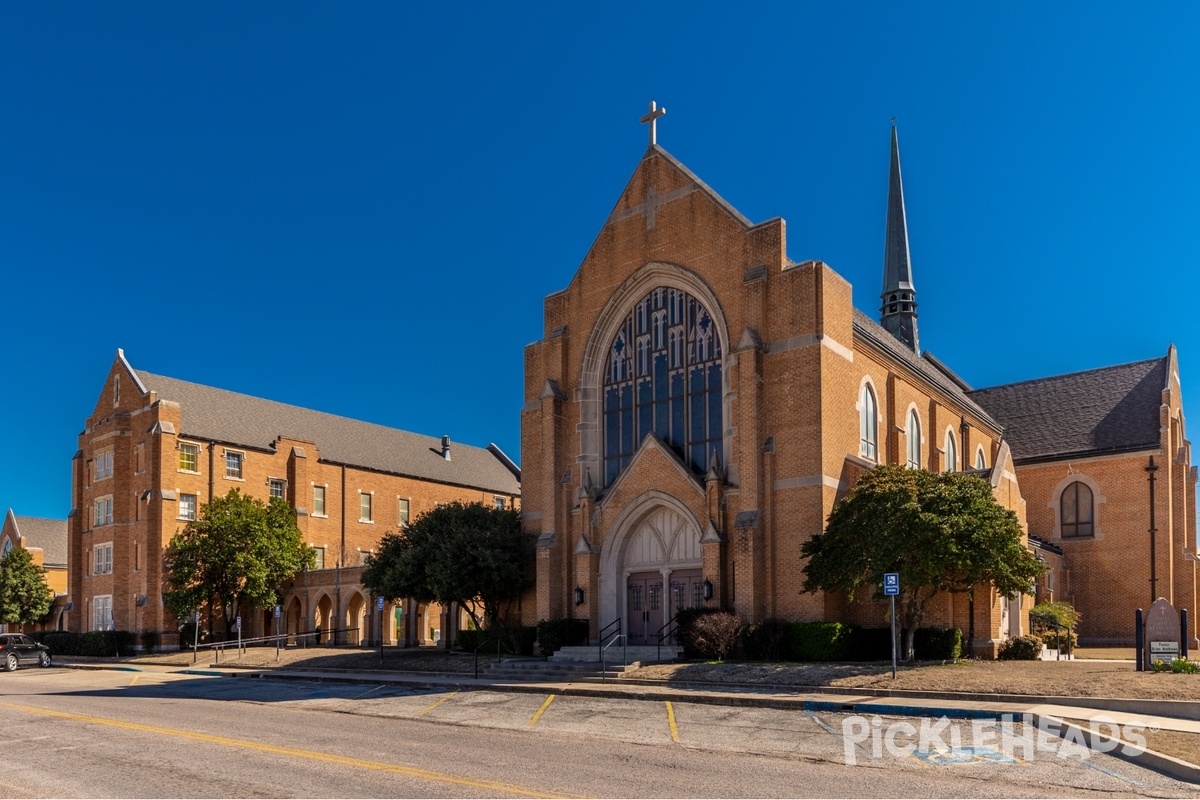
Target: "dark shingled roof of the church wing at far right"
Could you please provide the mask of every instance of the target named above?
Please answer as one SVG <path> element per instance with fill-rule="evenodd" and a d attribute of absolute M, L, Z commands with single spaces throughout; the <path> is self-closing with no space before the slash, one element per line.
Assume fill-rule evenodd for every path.
<path fill-rule="evenodd" d="M 1159 446 L 1168 359 L 979 389 L 1018 464 Z"/>

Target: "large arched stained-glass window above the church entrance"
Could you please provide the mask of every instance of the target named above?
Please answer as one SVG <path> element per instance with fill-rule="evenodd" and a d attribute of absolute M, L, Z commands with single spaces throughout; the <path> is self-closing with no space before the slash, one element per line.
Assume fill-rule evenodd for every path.
<path fill-rule="evenodd" d="M 697 473 L 721 457 L 721 342 L 700 301 L 653 289 L 625 318 L 604 372 L 604 482 L 654 433 Z"/>

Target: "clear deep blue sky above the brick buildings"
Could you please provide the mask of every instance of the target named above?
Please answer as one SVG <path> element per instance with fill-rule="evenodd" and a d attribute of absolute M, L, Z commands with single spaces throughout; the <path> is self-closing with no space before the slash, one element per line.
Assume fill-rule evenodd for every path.
<path fill-rule="evenodd" d="M 922 344 L 988 386 L 1174 342 L 1200 420 L 1198 8 L 4 4 L 0 510 L 70 511 L 116 348 L 520 461 L 652 98 L 871 314 L 895 115 Z"/>

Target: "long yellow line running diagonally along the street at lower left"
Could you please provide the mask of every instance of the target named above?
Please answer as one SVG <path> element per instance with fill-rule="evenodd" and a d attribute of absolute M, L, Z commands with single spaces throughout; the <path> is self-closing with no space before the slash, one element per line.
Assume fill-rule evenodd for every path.
<path fill-rule="evenodd" d="M 266 745 L 258 741 L 248 741 L 245 739 L 227 739 L 226 736 L 215 736 L 208 733 L 178 730 L 175 728 L 160 728 L 157 726 L 142 724 L 138 722 L 122 722 L 121 720 L 108 720 L 104 717 L 85 716 L 83 714 L 68 714 L 66 711 L 52 711 L 49 709 L 40 709 L 31 705 L 17 705 L 16 703 L 0 703 L 0 706 L 17 709 L 19 711 L 26 711 L 29 714 L 40 714 L 43 716 L 59 717 L 61 720 L 74 720 L 77 722 L 110 726 L 114 728 L 124 728 L 126 730 L 138 730 L 142 733 L 152 733 L 157 735 L 178 736 L 180 739 L 191 739 L 193 741 L 204 741 L 214 745 L 224 745 L 227 747 L 240 747 L 242 750 L 252 750 L 260 753 L 272 753 L 276 756 L 288 756 L 292 758 L 305 758 L 313 762 L 323 762 L 325 764 L 337 764 L 340 766 L 350 766 L 354 769 L 391 772 L 394 775 L 403 775 L 407 777 L 413 777 L 422 781 L 437 781 L 439 783 L 469 786 L 472 788 L 484 789 L 486 792 L 503 792 L 505 794 L 517 794 L 528 798 L 580 796 L 571 794 L 548 793 L 539 789 L 530 789 L 529 787 L 524 786 L 516 786 L 514 783 L 502 783 L 499 781 L 479 780 L 461 775 L 450 775 L 448 772 L 434 772 L 433 770 L 422 770 L 415 766 L 401 766 L 398 764 L 386 764 L 383 762 L 368 762 L 361 758 L 349 758 L 347 756 L 337 756 L 335 753 L 322 753 L 314 750 L 299 750 L 296 747 L 278 747 L 275 745 Z"/>

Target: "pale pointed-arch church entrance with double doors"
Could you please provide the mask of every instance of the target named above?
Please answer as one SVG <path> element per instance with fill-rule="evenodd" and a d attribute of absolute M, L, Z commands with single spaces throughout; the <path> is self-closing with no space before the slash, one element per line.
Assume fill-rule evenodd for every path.
<path fill-rule="evenodd" d="M 682 608 L 703 604 L 702 572 L 695 516 L 676 498 L 648 492 L 620 515 L 600 551 L 599 628 L 619 618 L 630 644 L 656 644 L 659 628 Z"/>

